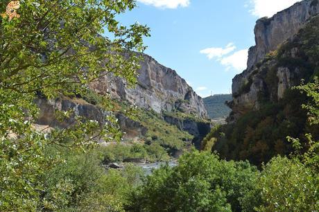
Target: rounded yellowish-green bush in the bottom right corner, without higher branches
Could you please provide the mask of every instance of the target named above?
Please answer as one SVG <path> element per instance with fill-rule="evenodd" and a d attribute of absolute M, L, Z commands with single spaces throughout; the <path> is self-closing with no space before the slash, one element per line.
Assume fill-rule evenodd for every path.
<path fill-rule="evenodd" d="M 297 159 L 275 157 L 264 166 L 256 189 L 243 198 L 244 209 L 318 211 L 318 184 L 318 176 Z"/>

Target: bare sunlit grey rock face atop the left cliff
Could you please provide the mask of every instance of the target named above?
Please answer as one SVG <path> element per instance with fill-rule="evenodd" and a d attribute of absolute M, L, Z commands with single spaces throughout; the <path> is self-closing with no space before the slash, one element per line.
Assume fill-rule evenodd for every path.
<path fill-rule="evenodd" d="M 98 94 L 111 94 L 112 98 L 127 100 L 133 105 L 153 109 L 157 113 L 179 109 L 200 118 L 207 117 L 202 98 L 184 79 L 150 56 L 143 57 L 136 87 L 130 87 L 125 80 L 112 76 L 105 76 L 101 82 L 94 82 L 90 87 Z"/>

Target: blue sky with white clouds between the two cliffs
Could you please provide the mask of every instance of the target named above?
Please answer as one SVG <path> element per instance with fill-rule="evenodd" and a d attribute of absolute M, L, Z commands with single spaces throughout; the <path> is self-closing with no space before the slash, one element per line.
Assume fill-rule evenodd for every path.
<path fill-rule="evenodd" d="M 202 97 L 229 94 L 232 78 L 245 69 L 259 17 L 296 0 L 137 0 L 121 15 L 123 25 L 150 27 L 146 53 L 174 69 Z"/>

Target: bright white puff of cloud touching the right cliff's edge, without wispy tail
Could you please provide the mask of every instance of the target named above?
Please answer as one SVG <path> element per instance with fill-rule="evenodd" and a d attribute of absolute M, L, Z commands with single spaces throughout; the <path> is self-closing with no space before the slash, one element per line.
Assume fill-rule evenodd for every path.
<path fill-rule="evenodd" d="M 236 71 L 243 71 L 247 68 L 248 49 L 236 51 L 230 56 L 221 59 L 221 64 L 226 67 L 226 71 L 235 69 Z"/>

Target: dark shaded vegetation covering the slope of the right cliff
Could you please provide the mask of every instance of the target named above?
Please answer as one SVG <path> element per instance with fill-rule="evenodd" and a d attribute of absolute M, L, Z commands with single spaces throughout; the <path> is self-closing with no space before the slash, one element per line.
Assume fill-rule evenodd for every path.
<path fill-rule="evenodd" d="M 305 149 L 307 137 L 304 134 L 311 132 L 315 139 L 319 138 L 318 125 L 309 125 L 307 111 L 300 106 L 312 101 L 307 95 L 297 89 L 286 89 L 284 97 L 280 100 L 277 98 L 278 67 L 298 70 L 298 74 L 293 75 L 295 78 L 291 78 L 291 83 L 295 85 L 299 85 L 301 80 L 311 82 L 315 76 L 319 76 L 318 35 L 319 17 L 314 17 L 293 41 L 286 42 L 277 51 L 267 55 L 259 65 L 258 71 L 266 71 L 265 83 L 268 88 L 266 93 L 259 94 L 259 109 L 248 110 L 236 123 L 214 129 L 206 139 L 211 146 L 214 143 L 214 150 L 221 157 L 248 159 L 260 166 L 277 154 L 288 155 L 292 151 L 286 136 L 299 137 Z M 291 56 L 293 49 L 298 49 L 298 55 L 294 58 Z"/>

